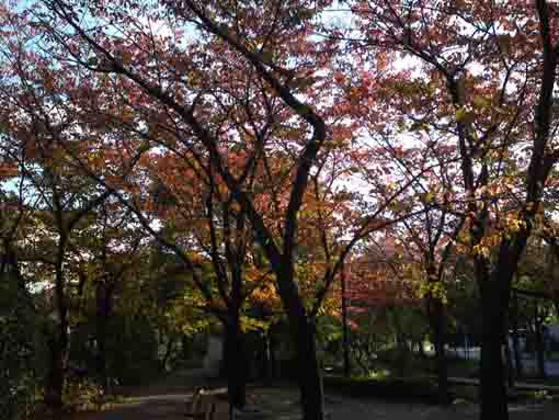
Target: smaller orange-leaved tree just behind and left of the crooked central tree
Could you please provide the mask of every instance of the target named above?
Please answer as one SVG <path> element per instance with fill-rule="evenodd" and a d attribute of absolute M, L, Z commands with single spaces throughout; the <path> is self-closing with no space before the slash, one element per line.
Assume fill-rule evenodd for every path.
<path fill-rule="evenodd" d="M 231 154 L 230 160 L 235 158 Z M 193 254 L 199 254 L 198 260 L 213 266 L 214 281 L 201 283 L 204 288 L 199 305 L 223 325 L 229 402 L 230 407 L 242 408 L 248 375 L 242 309 L 269 274 L 259 270 L 254 257 L 250 258 L 255 250 L 247 215 L 220 180 L 195 175 L 194 158 L 176 159 L 171 154 L 152 156 L 146 162 L 153 178 L 152 206 L 166 225 L 166 237 L 174 238 L 166 240 L 191 248 Z M 249 177 L 248 186 L 253 190 L 258 182 L 254 169 Z M 252 276 L 250 283 L 248 275 Z"/>

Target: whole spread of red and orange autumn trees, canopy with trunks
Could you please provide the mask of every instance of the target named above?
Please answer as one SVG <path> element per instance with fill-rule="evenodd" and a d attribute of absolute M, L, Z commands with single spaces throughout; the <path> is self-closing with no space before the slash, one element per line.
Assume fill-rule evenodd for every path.
<path fill-rule="evenodd" d="M 506 418 L 513 279 L 534 237 L 557 251 L 558 16 L 545 0 L 2 3 L 0 240 L 48 320 L 47 402 L 80 322 L 109 388 L 112 314 L 149 319 L 169 354 L 210 314 L 229 402 L 246 332 L 287 322 L 321 420 L 317 320 L 342 302 L 424 311 L 446 400 L 460 261 L 481 417 Z"/>

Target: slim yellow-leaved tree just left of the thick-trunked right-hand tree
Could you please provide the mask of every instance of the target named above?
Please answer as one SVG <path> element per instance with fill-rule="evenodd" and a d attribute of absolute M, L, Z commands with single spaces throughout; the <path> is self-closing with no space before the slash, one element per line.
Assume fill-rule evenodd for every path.
<path fill-rule="evenodd" d="M 408 213 L 420 209 L 387 229 L 384 239 L 386 252 L 399 253 L 407 280 L 414 284 L 418 294 L 424 298 L 426 320 L 435 347 L 438 399 L 447 404 L 445 307 L 446 288 L 453 275 L 448 263 L 453 257 L 453 241 L 457 239 L 465 217 L 455 211 L 460 204 L 453 193 L 453 179 L 457 171 L 455 150 L 444 139 L 420 128 L 410 128 L 409 135 L 413 135 L 418 145 L 408 148 L 395 148 L 389 135 L 380 137 L 390 162 L 388 170 L 399 170 L 411 184 L 407 192 L 408 200 L 400 200 L 399 205 Z"/>

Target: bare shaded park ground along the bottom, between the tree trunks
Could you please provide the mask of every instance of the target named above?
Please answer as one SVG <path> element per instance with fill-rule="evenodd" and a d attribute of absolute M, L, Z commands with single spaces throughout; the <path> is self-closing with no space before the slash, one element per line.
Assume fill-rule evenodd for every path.
<path fill-rule="evenodd" d="M 95 412 L 77 412 L 65 420 L 184 420 L 185 400 L 195 386 L 208 385 L 202 372 L 175 373 L 152 385 L 129 388 L 123 402 Z M 223 384 L 212 383 L 215 387 Z M 240 419 L 295 420 L 300 419 L 298 391 L 295 386 L 250 386 L 249 401 L 259 416 L 240 416 Z M 457 401 L 450 407 L 418 402 L 387 402 L 375 398 L 357 399 L 332 393 L 326 395 L 327 419 L 335 420 L 466 420 L 477 419 L 476 404 Z M 558 402 L 515 402 L 510 405 L 511 420 L 557 420 Z M 497 420 L 497 419 L 495 419 Z"/>

